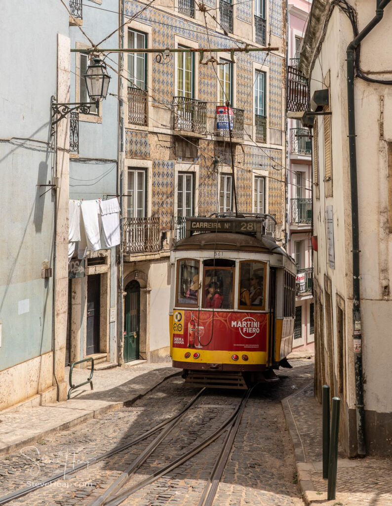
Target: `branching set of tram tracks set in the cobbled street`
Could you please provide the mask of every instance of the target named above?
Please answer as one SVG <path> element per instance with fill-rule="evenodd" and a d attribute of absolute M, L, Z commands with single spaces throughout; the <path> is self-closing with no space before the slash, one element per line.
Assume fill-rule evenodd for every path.
<path fill-rule="evenodd" d="M 305 365 L 300 367 L 295 367 L 293 369 L 288 369 L 281 371 L 277 373 L 277 375 L 283 375 L 290 373 L 291 371 L 298 371 L 302 369 L 308 369 L 311 368 L 312 365 Z M 158 448 L 159 445 L 162 444 L 163 440 L 172 432 L 172 430 L 180 423 L 180 421 L 184 418 L 185 414 L 189 412 L 190 408 L 195 404 L 197 399 L 200 398 L 200 396 L 205 392 L 205 389 L 201 389 L 197 394 L 187 403 L 187 405 L 182 408 L 178 413 L 171 416 L 170 418 L 162 421 L 155 427 L 149 429 L 142 435 L 138 436 L 137 438 L 133 439 L 132 441 L 127 442 L 126 444 L 123 444 L 121 446 L 116 446 L 113 449 L 102 453 L 98 457 L 94 459 L 93 462 L 83 462 L 79 465 L 74 466 L 72 469 L 58 473 L 56 475 L 51 476 L 50 478 L 43 480 L 40 482 L 39 485 L 36 486 L 30 486 L 25 487 L 23 489 L 17 490 L 15 492 L 11 492 L 7 495 L 4 495 L 0 497 L 0 505 L 7 504 L 13 500 L 19 499 L 23 496 L 26 496 L 30 494 L 31 492 L 41 488 L 42 486 L 45 486 L 45 484 L 54 483 L 57 480 L 64 479 L 66 477 L 69 477 L 71 475 L 74 475 L 75 473 L 89 467 L 92 468 L 96 463 L 108 459 L 126 449 L 129 447 L 135 446 L 138 443 L 141 443 L 145 439 L 149 438 L 150 436 L 156 434 L 161 429 L 162 432 L 154 438 L 154 440 L 147 446 L 145 450 L 143 450 L 142 453 L 128 466 L 128 468 L 120 475 L 119 478 L 117 478 L 114 483 L 98 498 L 96 498 L 93 502 L 89 503 L 89 506 L 117 506 L 118 504 L 121 504 L 127 497 L 135 493 L 136 491 L 146 487 L 149 484 L 152 484 L 153 482 L 157 481 L 162 476 L 166 475 L 167 473 L 175 470 L 176 468 L 180 467 L 184 463 L 186 463 L 189 459 L 191 459 L 193 456 L 200 453 L 204 448 L 206 448 L 208 445 L 210 445 L 213 441 L 220 438 L 223 434 L 226 434 L 224 443 L 222 445 L 221 451 L 218 454 L 216 461 L 214 463 L 213 469 L 211 471 L 210 477 L 206 483 L 206 486 L 204 488 L 204 491 L 200 497 L 200 501 L 198 503 L 198 506 L 210 506 L 213 502 L 213 499 L 216 494 L 216 490 L 219 486 L 220 479 L 222 477 L 222 474 L 224 472 L 226 462 L 229 458 L 230 451 L 233 445 L 233 442 L 235 440 L 235 436 L 239 427 L 239 424 L 241 422 L 242 414 L 245 410 L 246 403 L 253 391 L 253 386 L 249 390 L 247 390 L 241 399 L 241 401 L 238 403 L 236 408 L 234 409 L 234 412 L 227 418 L 221 426 L 215 430 L 210 436 L 205 438 L 202 442 L 198 443 L 192 450 L 186 452 L 182 456 L 178 457 L 174 461 L 168 463 L 164 467 L 161 467 L 159 470 L 155 471 L 151 475 L 144 478 L 142 481 L 134 484 L 133 486 L 128 487 L 127 489 L 120 491 L 121 488 L 123 488 L 127 481 L 136 473 L 138 469 L 141 468 L 144 462 L 146 462 L 147 458 Z M 202 405 L 198 407 L 203 407 Z M 224 406 L 222 406 L 224 407 Z M 117 495 L 115 495 L 117 493 Z"/>

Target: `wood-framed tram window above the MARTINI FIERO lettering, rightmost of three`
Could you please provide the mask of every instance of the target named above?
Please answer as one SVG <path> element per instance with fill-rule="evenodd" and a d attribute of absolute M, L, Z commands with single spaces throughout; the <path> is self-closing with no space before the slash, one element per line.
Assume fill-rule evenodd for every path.
<path fill-rule="evenodd" d="M 265 309 L 264 262 L 240 262 L 240 289 L 238 309 Z"/>

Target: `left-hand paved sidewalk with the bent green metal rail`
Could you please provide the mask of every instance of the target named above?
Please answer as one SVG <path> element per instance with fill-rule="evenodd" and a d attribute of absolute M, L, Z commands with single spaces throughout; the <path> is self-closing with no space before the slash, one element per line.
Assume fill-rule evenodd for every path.
<path fill-rule="evenodd" d="M 65 373 L 68 382 L 69 367 L 66 367 Z M 180 373 L 170 363 L 143 363 L 97 370 L 93 375 L 94 390 L 89 384 L 84 385 L 71 393 L 69 401 L 0 411 L 0 454 L 11 453 L 44 439 L 52 432 L 133 404 L 167 377 Z M 90 369 L 74 369 L 72 383 L 83 383 L 89 375 Z"/>

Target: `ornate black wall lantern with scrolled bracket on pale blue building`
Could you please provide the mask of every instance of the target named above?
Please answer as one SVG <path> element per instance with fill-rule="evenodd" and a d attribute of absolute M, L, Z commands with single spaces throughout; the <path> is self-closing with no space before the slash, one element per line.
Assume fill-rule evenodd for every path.
<path fill-rule="evenodd" d="M 89 97 L 94 102 L 74 102 L 70 104 L 58 104 L 55 97 L 52 96 L 52 119 L 51 133 L 55 135 L 55 125 L 70 112 L 79 112 L 81 114 L 89 114 L 93 105 L 98 106 L 98 102 L 106 99 L 108 93 L 110 75 L 106 70 L 105 63 L 100 58 L 94 58 L 94 64 L 89 65 L 84 79 Z"/>

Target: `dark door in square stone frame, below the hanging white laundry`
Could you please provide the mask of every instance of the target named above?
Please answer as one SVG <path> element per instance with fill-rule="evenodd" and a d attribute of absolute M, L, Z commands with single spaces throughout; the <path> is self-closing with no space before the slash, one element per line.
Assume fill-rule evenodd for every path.
<path fill-rule="evenodd" d="M 99 353 L 101 275 L 87 277 L 86 355 Z"/>

